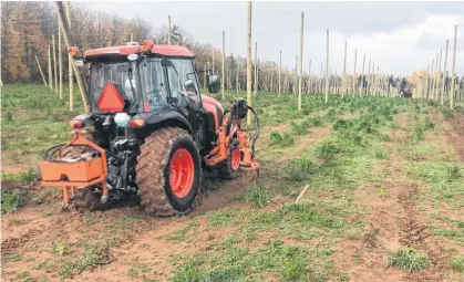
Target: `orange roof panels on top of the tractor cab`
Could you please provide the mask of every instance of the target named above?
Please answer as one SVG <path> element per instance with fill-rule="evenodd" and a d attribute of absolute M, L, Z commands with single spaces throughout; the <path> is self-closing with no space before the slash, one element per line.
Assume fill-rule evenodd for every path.
<path fill-rule="evenodd" d="M 84 52 L 84 59 L 95 58 L 95 56 L 105 56 L 105 55 L 128 55 L 134 54 L 140 51 L 144 51 L 141 45 L 121 45 L 121 46 L 110 46 L 110 48 L 100 48 L 93 49 Z M 177 45 L 163 45 L 163 44 L 153 44 L 151 49 L 151 54 L 157 54 L 162 56 L 184 56 L 184 58 L 194 58 L 194 54 L 184 46 Z"/>

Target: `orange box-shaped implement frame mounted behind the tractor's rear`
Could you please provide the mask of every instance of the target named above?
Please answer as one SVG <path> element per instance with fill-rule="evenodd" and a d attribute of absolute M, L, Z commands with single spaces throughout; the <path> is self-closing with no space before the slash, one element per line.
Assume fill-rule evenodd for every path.
<path fill-rule="evenodd" d="M 76 145 L 92 147 L 100 152 L 101 157 L 75 163 L 60 161 L 63 149 Z M 70 199 L 69 189 L 73 196 L 76 188 L 85 188 L 96 184 L 102 184 L 102 202 L 107 199 L 106 153 L 102 147 L 86 139 L 82 130 L 74 130 L 73 139 L 58 150 L 58 159 L 55 161 L 45 160 L 40 163 L 40 171 L 42 186 L 62 187 L 65 206 L 68 206 Z"/>

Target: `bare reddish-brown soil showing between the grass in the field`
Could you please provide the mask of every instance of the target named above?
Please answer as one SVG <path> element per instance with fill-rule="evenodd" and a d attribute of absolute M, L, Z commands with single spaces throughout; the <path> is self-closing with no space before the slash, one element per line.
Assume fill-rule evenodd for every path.
<path fill-rule="evenodd" d="M 464 116 L 456 117 L 454 123 L 437 118 L 433 115 L 434 122 L 444 132 L 444 137 L 427 137 L 427 140 L 436 144 L 446 140 L 453 144 L 464 161 Z M 357 203 L 369 210 L 367 215 L 362 215 L 369 223 L 360 240 L 342 238 L 336 243 L 333 260 L 341 271 L 349 274 L 350 281 L 442 281 L 447 263 L 447 258 L 444 257 L 446 241 L 439 241 L 431 236 L 424 213 L 417 212 L 415 199 L 421 195 L 421 184 L 405 179 L 405 161 L 399 153 L 410 146 L 404 140 L 412 130 L 412 118 L 403 113 L 395 116 L 395 122 L 404 128 L 391 129 L 391 142 L 383 144 L 390 154 L 381 166 L 373 167 L 385 176 L 381 179 L 380 187 L 389 196 L 373 197 L 379 191 L 374 184 L 357 190 Z M 282 125 L 277 129 L 285 132 L 286 127 Z M 265 136 L 266 134 L 268 136 L 268 132 Z M 308 136 L 298 140 L 289 156 L 277 158 L 275 164 L 286 163 L 330 134 L 330 128 L 312 128 Z M 271 182 L 272 179 L 264 181 L 266 185 L 266 181 Z M 209 211 L 224 207 L 246 209 L 239 199 L 250 182 L 249 173 L 243 173 L 236 180 L 218 182 L 220 188 L 208 192 L 202 206 L 185 217 L 174 218 L 148 217 L 140 207 L 124 203 L 103 212 L 61 211 L 60 192 L 45 192 L 34 184 L 24 189 L 24 192 L 30 198 L 41 197 L 41 202 L 25 205 L 16 213 L 1 216 L 2 255 L 21 253 L 23 258 L 21 261 L 2 261 L 3 281 L 20 281 L 17 276 L 21 272 L 28 272 L 34 278 L 47 276 L 50 281 L 61 281 L 59 270 L 53 269 L 53 265 L 37 268 L 38 262 L 56 258 L 50 251 L 53 243 L 66 242 L 66 251 L 73 254 L 83 242 L 92 244 L 102 238 L 115 241 L 100 251 L 99 255 L 104 258 L 101 260 L 103 264 L 85 270 L 70 281 L 143 281 L 126 274 L 134 261 L 154 265 L 151 273 L 157 274 L 156 281 L 167 281 L 174 271 L 171 261 L 176 259 L 176 254 L 205 251 L 213 242 L 221 242 L 234 227 L 199 232 L 195 240 L 172 241 L 166 236 L 181 233 L 182 228 L 193 221 L 197 222 L 202 231 L 207 224 L 206 216 Z M 281 205 L 282 201 L 274 201 L 267 208 L 276 209 Z M 297 241 L 293 243 L 301 244 Z M 317 242 L 311 241 L 311 244 L 315 243 Z M 429 254 L 432 267 L 416 272 L 385 268 L 389 250 L 403 247 L 412 247 Z M 274 281 L 276 278 L 269 275 L 269 280 Z"/>

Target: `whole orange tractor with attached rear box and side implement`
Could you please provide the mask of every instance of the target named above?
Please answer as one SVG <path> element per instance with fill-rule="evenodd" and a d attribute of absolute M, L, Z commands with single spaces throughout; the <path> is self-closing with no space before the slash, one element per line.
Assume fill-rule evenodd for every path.
<path fill-rule="evenodd" d="M 235 178 L 245 166 L 257 176 L 255 111 L 243 98 L 225 111 L 200 94 L 205 71 L 187 49 L 146 40 L 78 53 L 70 49 L 74 64 L 90 70 L 87 113 L 70 122 L 73 139 L 40 164 L 42 186 L 61 187 L 65 208 L 99 209 L 138 195 L 149 213 L 185 213 L 200 195 L 202 169 Z M 207 87 L 218 93 L 210 72 Z M 249 113 L 252 136 L 243 127 Z"/>

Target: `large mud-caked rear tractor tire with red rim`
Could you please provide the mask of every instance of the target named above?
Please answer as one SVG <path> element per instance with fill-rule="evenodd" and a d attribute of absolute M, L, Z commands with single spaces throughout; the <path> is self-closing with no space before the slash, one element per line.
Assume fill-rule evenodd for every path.
<path fill-rule="evenodd" d="M 136 182 L 148 213 L 187 213 L 199 199 L 202 182 L 200 157 L 190 135 L 166 127 L 146 137 L 137 157 Z"/>

